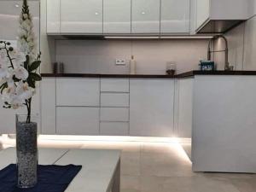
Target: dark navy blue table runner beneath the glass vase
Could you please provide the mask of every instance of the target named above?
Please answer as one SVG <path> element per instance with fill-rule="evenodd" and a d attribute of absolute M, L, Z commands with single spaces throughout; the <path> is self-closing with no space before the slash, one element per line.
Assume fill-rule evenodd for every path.
<path fill-rule="evenodd" d="M 16 187 L 16 165 L 0 171 L 0 192 L 64 192 L 82 166 L 38 166 L 38 184 L 31 189 Z"/>

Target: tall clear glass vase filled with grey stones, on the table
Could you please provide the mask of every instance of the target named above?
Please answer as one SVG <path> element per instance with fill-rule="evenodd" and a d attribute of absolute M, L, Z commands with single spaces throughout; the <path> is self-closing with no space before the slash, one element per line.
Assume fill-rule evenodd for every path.
<path fill-rule="evenodd" d="M 17 187 L 38 183 L 38 115 L 16 114 Z"/>

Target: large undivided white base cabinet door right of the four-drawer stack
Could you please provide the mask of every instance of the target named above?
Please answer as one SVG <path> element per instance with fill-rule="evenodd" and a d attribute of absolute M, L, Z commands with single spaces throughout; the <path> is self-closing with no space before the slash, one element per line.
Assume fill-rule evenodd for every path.
<path fill-rule="evenodd" d="M 172 137 L 174 80 L 131 79 L 130 135 Z"/>

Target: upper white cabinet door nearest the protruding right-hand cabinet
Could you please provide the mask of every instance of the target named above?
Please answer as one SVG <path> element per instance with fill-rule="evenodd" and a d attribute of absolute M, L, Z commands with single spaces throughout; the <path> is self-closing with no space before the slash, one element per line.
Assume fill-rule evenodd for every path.
<path fill-rule="evenodd" d="M 189 0 L 161 0 L 161 33 L 189 33 Z"/>

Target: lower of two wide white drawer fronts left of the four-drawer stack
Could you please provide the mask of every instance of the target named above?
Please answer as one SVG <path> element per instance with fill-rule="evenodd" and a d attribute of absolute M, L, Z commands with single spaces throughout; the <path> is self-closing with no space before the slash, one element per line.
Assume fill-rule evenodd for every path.
<path fill-rule="evenodd" d="M 99 135 L 99 108 L 56 109 L 56 131 L 61 135 Z"/>

